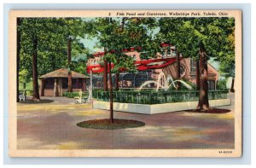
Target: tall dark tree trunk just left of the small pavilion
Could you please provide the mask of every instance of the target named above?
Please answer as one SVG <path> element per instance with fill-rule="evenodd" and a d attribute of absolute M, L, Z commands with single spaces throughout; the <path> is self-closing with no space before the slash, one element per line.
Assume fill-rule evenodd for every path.
<path fill-rule="evenodd" d="M 32 52 L 32 78 L 33 78 L 33 101 L 39 101 L 39 87 L 38 87 L 38 38 L 33 38 L 33 52 Z"/>

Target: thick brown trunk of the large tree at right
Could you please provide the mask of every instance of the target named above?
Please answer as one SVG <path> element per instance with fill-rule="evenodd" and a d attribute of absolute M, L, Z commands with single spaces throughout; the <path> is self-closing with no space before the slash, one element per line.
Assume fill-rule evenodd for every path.
<path fill-rule="evenodd" d="M 206 49 L 201 43 L 201 47 L 199 49 L 199 55 L 200 55 L 200 96 L 199 101 L 197 105 L 197 109 L 200 109 L 201 111 L 208 110 L 209 107 L 209 101 L 208 101 L 208 83 L 207 83 L 207 53 Z"/>

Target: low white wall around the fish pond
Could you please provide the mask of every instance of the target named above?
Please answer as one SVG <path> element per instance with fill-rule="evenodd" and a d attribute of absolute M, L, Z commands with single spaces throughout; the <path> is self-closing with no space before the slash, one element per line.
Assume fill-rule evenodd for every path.
<path fill-rule="evenodd" d="M 189 109 L 195 109 L 197 107 L 198 101 L 187 101 L 187 102 L 172 102 L 165 104 L 133 104 L 133 103 L 120 103 L 113 102 L 113 110 L 119 112 L 129 112 L 129 113 L 144 113 L 144 114 L 154 114 L 154 113 L 169 113 L 177 112 Z M 219 99 L 209 101 L 210 107 L 220 107 L 227 106 L 231 104 L 230 99 Z M 93 101 L 93 108 L 109 110 L 108 101 Z"/>

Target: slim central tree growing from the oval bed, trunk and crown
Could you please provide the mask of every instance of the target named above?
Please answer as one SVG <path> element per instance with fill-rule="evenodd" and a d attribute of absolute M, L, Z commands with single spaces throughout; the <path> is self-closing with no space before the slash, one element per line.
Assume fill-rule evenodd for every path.
<path fill-rule="evenodd" d="M 108 62 L 109 69 L 110 123 L 113 123 L 112 72 L 119 73 L 120 69 L 125 69 L 125 71 L 135 70 L 133 58 L 125 55 L 123 49 L 142 46 L 145 43 L 145 39 L 148 39 L 148 30 L 145 24 L 147 21 L 147 19 L 138 18 L 109 18 L 109 20 L 97 18 L 96 20 L 98 31 L 96 37 L 100 41 L 100 46 L 105 49 L 105 54 L 107 53 L 103 56 L 103 60 Z M 112 64 L 114 65 L 113 69 L 111 68 Z M 107 72 L 106 69 L 105 72 Z M 116 78 L 116 81 L 118 81 L 118 78 Z"/>

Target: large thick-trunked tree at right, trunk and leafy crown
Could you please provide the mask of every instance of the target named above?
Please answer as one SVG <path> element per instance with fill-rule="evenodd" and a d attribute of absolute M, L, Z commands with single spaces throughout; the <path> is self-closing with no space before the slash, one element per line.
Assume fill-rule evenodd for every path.
<path fill-rule="evenodd" d="M 200 99 L 198 109 L 209 109 L 207 100 L 207 60 L 212 57 L 219 59 L 220 55 L 230 49 L 225 43 L 232 28 L 230 18 L 163 18 L 160 19 L 160 32 L 168 33 L 168 38 L 177 45 L 183 55 L 200 55 Z M 169 32 L 168 32 L 169 31 Z M 172 32 L 173 31 L 173 32 Z"/>

